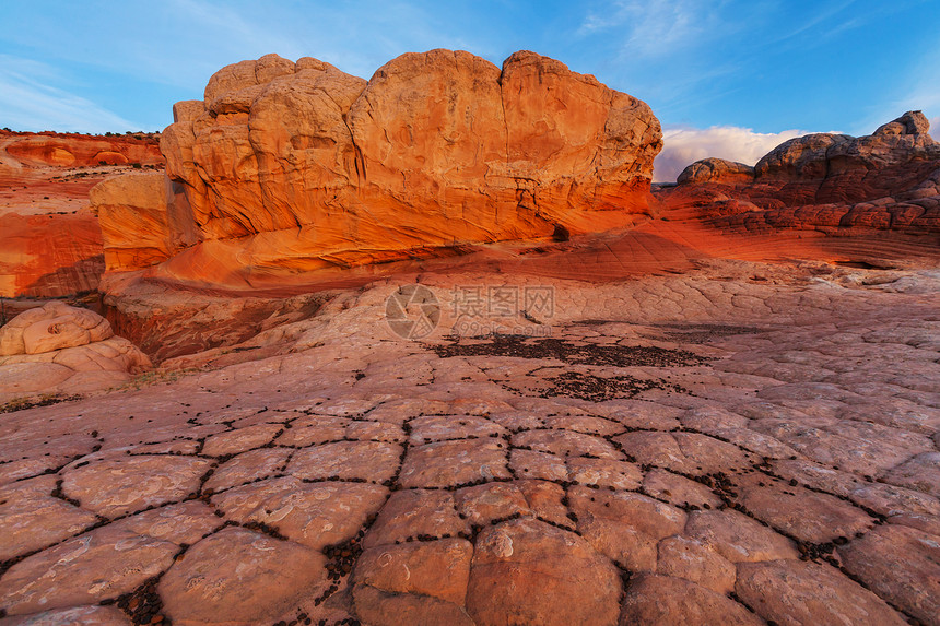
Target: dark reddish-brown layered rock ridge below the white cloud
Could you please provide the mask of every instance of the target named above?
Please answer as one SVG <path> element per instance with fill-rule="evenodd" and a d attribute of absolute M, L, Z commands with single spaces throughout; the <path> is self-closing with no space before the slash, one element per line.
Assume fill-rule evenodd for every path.
<path fill-rule="evenodd" d="M 808 134 L 786 141 L 754 167 L 720 158 L 693 163 L 666 206 L 700 208 L 718 226 L 940 233 L 940 143 L 920 111 L 873 134 Z"/>

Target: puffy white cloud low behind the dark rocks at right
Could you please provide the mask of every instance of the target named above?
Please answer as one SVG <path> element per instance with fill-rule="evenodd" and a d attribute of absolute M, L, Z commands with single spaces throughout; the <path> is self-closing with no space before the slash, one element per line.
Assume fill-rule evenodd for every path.
<path fill-rule="evenodd" d="M 801 130 L 754 132 L 736 126 L 667 128 L 662 132 L 662 152 L 654 162 L 653 179 L 672 182 L 688 165 L 709 156 L 754 165 L 780 143 L 801 134 L 807 133 Z"/>

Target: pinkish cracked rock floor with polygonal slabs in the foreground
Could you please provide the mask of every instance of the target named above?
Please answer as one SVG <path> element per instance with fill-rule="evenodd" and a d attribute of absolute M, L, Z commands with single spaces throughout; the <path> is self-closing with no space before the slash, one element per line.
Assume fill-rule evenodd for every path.
<path fill-rule="evenodd" d="M 940 273 L 824 269 L 384 280 L 0 414 L 0 624 L 940 624 Z M 475 284 L 553 314 L 451 334 Z"/>

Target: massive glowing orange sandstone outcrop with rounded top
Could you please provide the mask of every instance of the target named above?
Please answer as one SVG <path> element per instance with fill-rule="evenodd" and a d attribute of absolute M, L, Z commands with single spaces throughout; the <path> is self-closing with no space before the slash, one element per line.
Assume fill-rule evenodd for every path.
<path fill-rule="evenodd" d="M 630 226 L 661 147 L 645 103 L 526 51 L 502 70 L 407 54 L 368 82 L 268 55 L 216 72 L 174 119 L 163 191 L 141 177 L 93 194 L 107 269 L 165 261 L 165 276 L 230 287 Z"/>

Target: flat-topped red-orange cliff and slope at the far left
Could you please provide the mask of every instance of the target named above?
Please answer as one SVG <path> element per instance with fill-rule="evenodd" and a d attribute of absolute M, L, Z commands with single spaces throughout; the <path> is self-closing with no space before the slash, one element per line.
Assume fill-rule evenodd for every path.
<path fill-rule="evenodd" d="M 0 130 L 0 297 L 97 288 L 105 263 L 89 189 L 128 164 L 163 162 L 158 135 Z"/>

